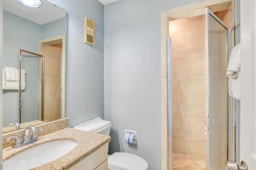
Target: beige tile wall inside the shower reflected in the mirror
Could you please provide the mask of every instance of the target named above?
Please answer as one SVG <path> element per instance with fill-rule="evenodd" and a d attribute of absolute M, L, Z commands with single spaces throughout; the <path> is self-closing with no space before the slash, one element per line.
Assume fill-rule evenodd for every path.
<path fill-rule="evenodd" d="M 43 45 L 44 121 L 60 119 L 60 64 L 62 43 Z"/>

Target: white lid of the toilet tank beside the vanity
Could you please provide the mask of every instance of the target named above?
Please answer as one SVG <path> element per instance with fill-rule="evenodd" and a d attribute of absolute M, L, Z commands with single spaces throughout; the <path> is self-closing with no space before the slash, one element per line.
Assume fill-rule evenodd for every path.
<path fill-rule="evenodd" d="M 93 119 L 75 126 L 74 129 L 100 133 L 103 135 L 110 135 L 111 127 L 112 127 L 112 124 L 110 121 L 102 120 L 100 119 L 100 117 L 97 117 L 96 119 Z"/>

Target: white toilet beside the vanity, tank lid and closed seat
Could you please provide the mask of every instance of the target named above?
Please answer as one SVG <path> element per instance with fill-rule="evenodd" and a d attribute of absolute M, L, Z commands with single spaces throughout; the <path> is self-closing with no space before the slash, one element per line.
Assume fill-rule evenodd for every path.
<path fill-rule="evenodd" d="M 97 117 L 74 127 L 84 131 L 110 135 L 112 124 Z M 115 152 L 108 157 L 108 170 L 148 170 L 148 163 L 140 156 L 125 152 Z"/>

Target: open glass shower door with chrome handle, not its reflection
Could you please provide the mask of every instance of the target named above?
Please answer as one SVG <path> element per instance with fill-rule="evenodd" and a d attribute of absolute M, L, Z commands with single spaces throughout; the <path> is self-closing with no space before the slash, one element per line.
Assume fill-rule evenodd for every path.
<path fill-rule="evenodd" d="M 223 170 L 228 159 L 228 29 L 206 8 L 207 170 Z"/>

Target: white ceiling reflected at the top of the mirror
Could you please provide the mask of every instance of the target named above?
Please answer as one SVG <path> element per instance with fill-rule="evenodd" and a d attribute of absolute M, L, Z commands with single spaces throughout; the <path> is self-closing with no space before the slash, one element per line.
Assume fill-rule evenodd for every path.
<path fill-rule="evenodd" d="M 3 0 L 3 9 L 40 25 L 66 17 L 66 11 L 47 0 L 42 0 L 39 8 L 29 8 L 15 0 Z"/>

